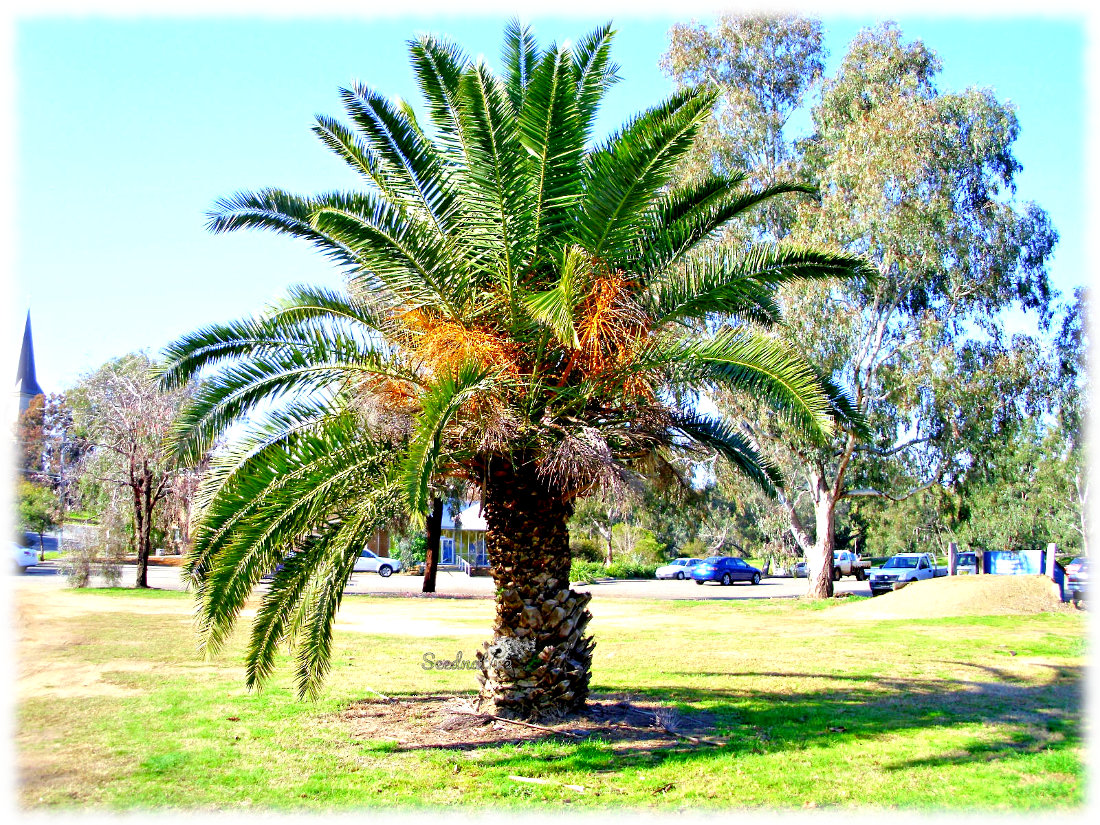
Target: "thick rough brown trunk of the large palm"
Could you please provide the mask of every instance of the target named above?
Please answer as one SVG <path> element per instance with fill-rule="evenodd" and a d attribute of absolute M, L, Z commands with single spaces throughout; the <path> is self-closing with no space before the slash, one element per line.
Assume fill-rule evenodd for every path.
<path fill-rule="evenodd" d="M 584 706 L 591 595 L 569 587 L 573 506 L 532 463 L 495 457 L 485 482 L 485 546 L 496 583 L 491 641 L 477 651 L 480 701 L 510 718 L 557 718 Z"/>

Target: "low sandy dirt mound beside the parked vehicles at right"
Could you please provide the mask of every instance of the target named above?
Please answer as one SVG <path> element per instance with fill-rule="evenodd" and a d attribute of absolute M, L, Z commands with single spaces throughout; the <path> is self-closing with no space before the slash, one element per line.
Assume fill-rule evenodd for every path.
<path fill-rule="evenodd" d="M 956 575 L 914 582 L 902 590 L 836 607 L 858 619 L 939 618 L 941 616 L 1022 616 L 1072 612 L 1058 585 L 1045 575 Z"/>

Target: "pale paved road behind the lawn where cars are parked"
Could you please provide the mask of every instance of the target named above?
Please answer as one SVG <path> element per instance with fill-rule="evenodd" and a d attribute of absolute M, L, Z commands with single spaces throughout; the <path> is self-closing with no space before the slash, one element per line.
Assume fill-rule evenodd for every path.
<path fill-rule="evenodd" d="M 133 586 L 138 569 L 133 564 L 122 565 L 123 586 Z M 65 576 L 61 575 L 53 561 L 28 568 L 23 575 L 12 575 L 20 588 L 64 587 Z M 392 575 L 383 579 L 376 573 L 355 573 L 344 593 L 349 595 L 420 596 L 420 576 Z M 92 580 L 94 585 L 102 585 L 102 580 Z M 179 568 L 150 565 L 148 584 L 161 590 L 185 590 L 179 580 Z M 260 588 L 265 585 L 261 584 Z M 867 582 L 842 579 L 834 584 L 837 593 L 871 595 Z M 614 580 L 598 584 L 575 585 L 574 590 L 592 593 L 595 597 L 609 598 L 793 598 L 806 592 L 805 579 L 765 579 L 760 584 L 698 585 L 692 581 L 657 581 L 652 579 Z M 465 573 L 440 572 L 436 578 L 436 592 L 441 596 L 464 596 L 492 598 L 495 586 L 488 576 L 468 576 Z"/>

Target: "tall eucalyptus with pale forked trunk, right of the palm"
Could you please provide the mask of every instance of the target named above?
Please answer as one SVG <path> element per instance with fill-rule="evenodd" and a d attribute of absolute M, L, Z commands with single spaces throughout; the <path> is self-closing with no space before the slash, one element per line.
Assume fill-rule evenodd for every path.
<path fill-rule="evenodd" d="M 801 31 L 790 28 L 789 48 L 772 47 L 776 61 L 803 51 Z M 681 61 L 685 80 L 741 63 L 684 54 L 698 64 L 686 73 Z M 1012 304 L 1049 318 L 1057 233 L 1043 209 L 1013 198 L 1016 113 L 989 89 L 941 91 L 939 70 L 935 53 L 895 25 L 864 30 L 822 80 L 813 134 L 790 147 L 790 174 L 816 182 L 822 198 L 800 201 L 781 237 L 864 255 L 879 277 L 784 287 L 777 332 L 850 394 L 872 437 L 840 422 L 822 446 L 744 393 L 719 403 L 790 482 L 777 506 L 811 562 L 815 596 L 832 594 L 838 508 L 920 495 L 965 470 L 966 435 L 992 411 L 956 394 L 949 376 L 977 365 L 976 342 L 1005 349 L 1001 312 Z M 807 86 L 812 72 L 802 78 Z"/>

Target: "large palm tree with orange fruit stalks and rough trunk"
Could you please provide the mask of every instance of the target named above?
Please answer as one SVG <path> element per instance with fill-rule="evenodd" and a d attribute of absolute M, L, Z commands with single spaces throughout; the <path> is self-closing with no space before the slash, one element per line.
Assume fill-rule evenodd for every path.
<path fill-rule="evenodd" d="M 497 585 L 482 698 L 514 716 L 574 711 L 593 649 L 590 596 L 569 582 L 574 499 L 639 474 L 686 483 L 683 460 L 715 453 L 772 488 L 750 440 L 695 411 L 708 386 L 767 398 L 818 437 L 845 415 L 767 328 L 781 321 L 779 285 L 867 268 L 809 249 L 717 249 L 745 210 L 809 190 L 752 191 L 737 173 L 675 188 L 707 91 L 679 91 L 590 145 L 617 80 L 612 35 L 540 50 L 512 22 L 501 75 L 447 41 L 410 41 L 430 125 L 353 85 L 341 90 L 352 127 L 314 127 L 362 191 L 264 189 L 211 212 L 216 232 L 306 240 L 348 283 L 296 288 L 166 351 L 165 386 L 220 366 L 175 431 L 184 459 L 260 419 L 219 457 L 186 565 L 213 650 L 283 563 L 252 626 L 250 686 L 286 641 L 299 694 L 316 695 L 360 548 L 394 519 L 422 521 L 435 485 L 458 480 L 481 490 Z"/>

